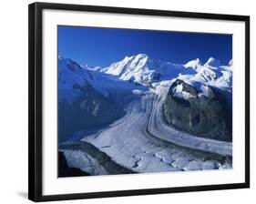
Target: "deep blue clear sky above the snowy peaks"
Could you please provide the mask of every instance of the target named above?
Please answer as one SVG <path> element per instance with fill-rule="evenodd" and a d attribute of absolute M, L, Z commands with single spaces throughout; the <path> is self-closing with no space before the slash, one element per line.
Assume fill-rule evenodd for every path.
<path fill-rule="evenodd" d="M 58 26 L 58 55 L 89 66 L 111 63 L 145 53 L 149 57 L 185 64 L 213 56 L 224 64 L 232 58 L 232 36 L 82 26 Z"/>

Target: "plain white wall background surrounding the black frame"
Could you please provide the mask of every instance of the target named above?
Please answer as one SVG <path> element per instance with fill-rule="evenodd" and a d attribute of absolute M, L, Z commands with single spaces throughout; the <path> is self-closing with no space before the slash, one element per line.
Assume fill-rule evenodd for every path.
<path fill-rule="evenodd" d="M 0 6 L 0 203 L 27 200 L 27 5 L 33 1 L 5 0 Z M 253 203 L 255 163 L 255 5 L 229 0 L 55 0 L 56 3 L 109 5 L 178 11 L 251 15 L 251 189 L 216 190 L 55 203 Z"/>

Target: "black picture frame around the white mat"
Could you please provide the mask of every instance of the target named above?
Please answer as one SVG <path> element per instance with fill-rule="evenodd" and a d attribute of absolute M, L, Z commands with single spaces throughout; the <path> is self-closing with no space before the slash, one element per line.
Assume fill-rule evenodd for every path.
<path fill-rule="evenodd" d="M 189 186 L 179 188 L 161 189 L 132 189 L 91 193 L 76 193 L 63 195 L 42 194 L 42 12 L 44 9 L 57 9 L 68 11 L 91 11 L 128 15 L 159 15 L 198 19 L 230 20 L 245 23 L 245 182 Z M 250 16 L 247 15 L 219 15 L 191 12 L 178 12 L 167 10 L 149 10 L 138 8 L 108 7 L 94 5 L 67 5 L 51 3 L 34 3 L 29 5 L 29 142 L 28 142 L 28 199 L 33 201 L 50 201 L 64 199 L 93 199 L 106 197 L 121 197 L 134 195 L 176 193 L 217 189 L 243 189 L 250 188 Z"/>

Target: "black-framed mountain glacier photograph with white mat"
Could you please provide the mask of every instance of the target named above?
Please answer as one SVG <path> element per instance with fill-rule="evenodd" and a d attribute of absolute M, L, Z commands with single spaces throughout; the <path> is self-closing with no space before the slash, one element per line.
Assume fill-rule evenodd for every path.
<path fill-rule="evenodd" d="M 250 17 L 29 5 L 29 199 L 250 187 Z"/>

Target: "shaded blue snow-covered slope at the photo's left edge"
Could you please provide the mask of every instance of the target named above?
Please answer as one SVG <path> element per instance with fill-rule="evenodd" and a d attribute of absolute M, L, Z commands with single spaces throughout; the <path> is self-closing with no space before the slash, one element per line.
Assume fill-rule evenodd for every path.
<path fill-rule="evenodd" d="M 71 103 L 79 97 L 81 91 L 76 87 L 90 86 L 98 94 L 115 97 L 117 92 L 126 94 L 135 89 L 135 85 L 128 81 L 120 80 L 118 77 L 102 72 L 100 66 L 80 66 L 77 62 L 58 56 L 58 94 L 60 100 Z M 137 87 L 138 88 L 138 87 Z M 145 89 L 145 87 L 140 87 Z M 118 98 L 117 98 L 118 99 Z"/>

